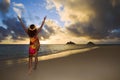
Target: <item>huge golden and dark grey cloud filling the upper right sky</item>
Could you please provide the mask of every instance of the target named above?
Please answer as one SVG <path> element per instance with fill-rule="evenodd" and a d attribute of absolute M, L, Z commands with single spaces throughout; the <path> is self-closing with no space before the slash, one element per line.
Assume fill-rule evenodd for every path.
<path fill-rule="evenodd" d="M 54 4 L 66 31 L 89 39 L 120 39 L 120 0 L 49 0 Z"/>

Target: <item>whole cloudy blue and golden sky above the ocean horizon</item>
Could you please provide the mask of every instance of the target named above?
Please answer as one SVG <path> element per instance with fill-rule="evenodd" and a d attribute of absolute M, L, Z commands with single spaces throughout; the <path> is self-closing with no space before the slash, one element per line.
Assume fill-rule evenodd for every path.
<path fill-rule="evenodd" d="M 0 0 L 0 44 L 29 44 L 21 27 L 39 27 L 41 44 L 120 44 L 120 0 Z"/>

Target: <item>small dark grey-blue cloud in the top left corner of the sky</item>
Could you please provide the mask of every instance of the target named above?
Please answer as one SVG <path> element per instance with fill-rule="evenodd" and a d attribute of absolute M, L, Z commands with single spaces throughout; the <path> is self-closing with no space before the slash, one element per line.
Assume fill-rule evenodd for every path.
<path fill-rule="evenodd" d="M 0 12 L 7 13 L 10 7 L 10 0 L 1 0 L 0 1 Z"/>

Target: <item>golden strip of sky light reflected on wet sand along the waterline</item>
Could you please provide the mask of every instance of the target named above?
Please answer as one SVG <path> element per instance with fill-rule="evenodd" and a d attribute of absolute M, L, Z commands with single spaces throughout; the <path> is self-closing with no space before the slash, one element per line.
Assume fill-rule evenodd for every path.
<path fill-rule="evenodd" d="M 70 56 L 70 55 L 73 55 L 73 54 L 78 54 L 78 53 L 86 52 L 86 51 L 89 51 L 89 50 L 93 50 L 93 49 L 96 49 L 96 48 L 99 48 L 99 47 L 91 47 L 91 48 L 63 51 L 63 52 L 59 52 L 59 53 L 56 53 L 56 54 L 39 56 L 38 60 L 43 61 L 43 60 L 66 57 L 66 56 Z M 6 60 L 5 64 L 6 65 L 12 65 L 12 64 L 15 64 L 15 63 L 25 63 L 27 61 L 28 61 L 28 58 L 22 58 L 22 59 L 17 59 L 17 60 Z"/>

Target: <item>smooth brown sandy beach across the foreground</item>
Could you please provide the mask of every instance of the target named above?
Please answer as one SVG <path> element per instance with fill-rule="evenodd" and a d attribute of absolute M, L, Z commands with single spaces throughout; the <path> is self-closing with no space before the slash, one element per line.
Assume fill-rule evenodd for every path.
<path fill-rule="evenodd" d="M 39 57 L 38 68 L 30 75 L 24 60 L 0 61 L 0 80 L 120 80 L 120 46 L 100 46 L 45 58 L 48 57 Z"/>

